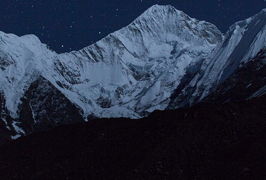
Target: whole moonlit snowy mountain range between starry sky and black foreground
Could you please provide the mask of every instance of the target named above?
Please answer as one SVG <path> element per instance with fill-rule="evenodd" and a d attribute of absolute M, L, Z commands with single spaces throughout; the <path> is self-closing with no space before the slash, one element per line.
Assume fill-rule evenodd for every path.
<path fill-rule="evenodd" d="M 213 24 L 156 5 L 96 44 L 64 54 L 34 35 L 0 32 L 0 139 L 194 105 L 254 60 L 265 45 L 265 17 L 263 10 L 222 36 Z"/>

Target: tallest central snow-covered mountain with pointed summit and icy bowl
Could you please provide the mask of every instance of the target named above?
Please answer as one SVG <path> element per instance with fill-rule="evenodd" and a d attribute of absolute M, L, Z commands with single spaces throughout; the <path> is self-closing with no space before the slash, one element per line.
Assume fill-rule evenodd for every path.
<path fill-rule="evenodd" d="M 220 39 L 212 24 L 172 6 L 152 6 L 96 44 L 59 55 L 53 77 L 85 116 L 139 118 L 143 111 L 165 109 L 186 67 Z"/>

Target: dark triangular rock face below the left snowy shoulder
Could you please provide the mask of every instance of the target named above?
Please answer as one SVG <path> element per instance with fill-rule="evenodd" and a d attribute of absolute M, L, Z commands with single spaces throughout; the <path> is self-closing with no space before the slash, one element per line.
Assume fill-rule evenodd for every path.
<path fill-rule="evenodd" d="M 21 102 L 19 122 L 28 133 L 85 121 L 80 115 L 81 109 L 44 78 L 38 78 L 30 85 Z"/>

